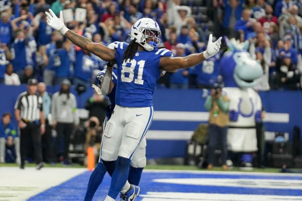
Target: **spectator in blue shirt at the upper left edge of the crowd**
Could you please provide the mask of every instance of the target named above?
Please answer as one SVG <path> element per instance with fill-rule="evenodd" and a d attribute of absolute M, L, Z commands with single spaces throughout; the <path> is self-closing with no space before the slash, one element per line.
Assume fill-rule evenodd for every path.
<path fill-rule="evenodd" d="M 12 37 L 12 27 L 10 16 L 7 12 L 1 13 L 0 20 L 0 42 L 10 45 Z"/>

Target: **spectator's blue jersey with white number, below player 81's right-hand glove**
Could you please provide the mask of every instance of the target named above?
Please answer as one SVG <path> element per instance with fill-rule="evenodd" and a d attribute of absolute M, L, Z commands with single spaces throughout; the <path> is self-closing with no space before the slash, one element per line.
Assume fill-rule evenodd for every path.
<path fill-rule="evenodd" d="M 197 83 L 209 86 L 216 83 L 219 75 L 218 62 L 219 55 L 215 55 L 195 66 Z"/>

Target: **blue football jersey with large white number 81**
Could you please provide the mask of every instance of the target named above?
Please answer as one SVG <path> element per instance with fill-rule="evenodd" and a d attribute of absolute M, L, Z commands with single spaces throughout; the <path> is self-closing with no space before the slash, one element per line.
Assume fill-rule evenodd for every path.
<path fill-rule="evenodd" d="M 115 103 L 123 107 L 152 106 L 153 91 L 161 73 L 159 60 L 162 56 L 172 56 L 171 51 L 165 48 L 137 51 L 132 60 L 122 61 L 129 44 L 114 43 L 118 70 Z"/>

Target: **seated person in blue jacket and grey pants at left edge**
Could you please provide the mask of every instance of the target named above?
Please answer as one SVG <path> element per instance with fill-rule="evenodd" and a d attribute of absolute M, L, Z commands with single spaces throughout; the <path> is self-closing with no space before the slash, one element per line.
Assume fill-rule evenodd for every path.
<path fill-rule="evenodd" d="M 20 141 L 10 113 L 4 113 L 0 122 L 0 163 L 5 163 L 5 146 L 15 146 L 16 163 L 20 164 Z"/>

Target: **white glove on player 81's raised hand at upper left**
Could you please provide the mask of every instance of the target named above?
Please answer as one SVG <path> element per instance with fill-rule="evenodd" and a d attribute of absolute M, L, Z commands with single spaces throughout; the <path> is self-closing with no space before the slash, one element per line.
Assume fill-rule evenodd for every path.
<path fill-rule="evenodd" d="M 65 24 L 64 24 L 64 19 L 63 19 L 63 12 L 60 11 L 60 17 L 57 18 L 56 14 L 52 9 L 48 9 L 48 12 L 45 12 L 46 14 L 46 23 L 54 28 L 55 30 L 59 31 L 61 34 L 65 35 L 65 33 L 69 30 Z"/>

